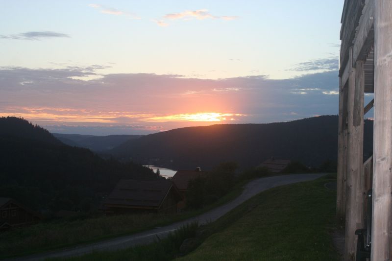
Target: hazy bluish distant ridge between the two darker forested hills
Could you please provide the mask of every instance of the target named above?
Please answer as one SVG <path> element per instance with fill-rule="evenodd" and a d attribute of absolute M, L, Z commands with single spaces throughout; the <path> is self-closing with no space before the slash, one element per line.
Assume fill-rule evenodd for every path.
<path fill-rule="evenodd" d="M 81 148 L 88 148 L 95 152 L 102 152 L 113 149 L 123 142 L 138 139 L 143 135 L 108 135 L 94 136 L 81 134 L 53 133 L 53 136 L 64 144 Z"/>

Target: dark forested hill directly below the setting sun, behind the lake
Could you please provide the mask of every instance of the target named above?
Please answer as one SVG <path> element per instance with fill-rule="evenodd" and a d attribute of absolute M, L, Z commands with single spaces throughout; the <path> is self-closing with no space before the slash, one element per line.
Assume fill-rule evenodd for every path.
<path fill-rule="evenodd" d="M 373 123 L 365 123 L 365 152 L 372 145 Z M 241 168 L 257 166 L 270 157 L 298 160 L 307 166 L 336 161 L 338 117 L 320 116 L 269 124 L 220 124 L 174 129 L 128 141 L 112 150 L 125 159 L 167 167 L 211 168 L 235 161 Z M 172 160 L 172 163 L 171 163 Z M 154 162 L 152 162 L 154 163 Z"/>

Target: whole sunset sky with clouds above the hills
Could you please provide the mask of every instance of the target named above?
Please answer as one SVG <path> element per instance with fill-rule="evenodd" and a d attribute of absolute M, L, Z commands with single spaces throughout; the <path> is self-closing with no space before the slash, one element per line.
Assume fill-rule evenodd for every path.
<path fill-rule="evenodd" d="M 338 113 L 343 0 L 0 4 L 0 116 L 109 135 Z"/>

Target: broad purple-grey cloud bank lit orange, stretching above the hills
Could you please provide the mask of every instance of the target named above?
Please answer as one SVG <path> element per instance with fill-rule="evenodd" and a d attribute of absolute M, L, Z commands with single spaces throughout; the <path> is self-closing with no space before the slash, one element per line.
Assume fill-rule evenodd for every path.
<path fill-rule="evenodd" d="M 91 127 L 91 133 L 97 131 L 94 126 L 106 126 L 110 134 L 116 126 L 144 126 L 138 131 L 149 133 L 209 124 L 199 119 L 261 123 L 338 111 L 337 71 L 279 80 L 264 75 L 213 80 L 153 73 L 100 75 L 105 67 L 0 67 L 1 116 L 21 116 L 44 126 Z M 101 77 L 77 78 L 91 75 Z"/>

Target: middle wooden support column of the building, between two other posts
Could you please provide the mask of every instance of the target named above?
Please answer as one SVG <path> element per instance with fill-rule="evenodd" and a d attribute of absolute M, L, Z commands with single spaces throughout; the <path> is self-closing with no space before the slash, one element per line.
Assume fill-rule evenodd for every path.
<path fill-rule="evenodd" d="M 352 63 L 352 48 L 349 62 Z M 348 80 L 348 135 L 346 179 L 346 225 L 344 260 L 355 261 L 357 237 L 355 231 L 363 228 L 363 122 L 364 122 L 364 62 L 358 61 L 350 70 Z"/>

